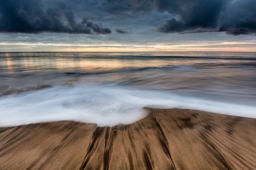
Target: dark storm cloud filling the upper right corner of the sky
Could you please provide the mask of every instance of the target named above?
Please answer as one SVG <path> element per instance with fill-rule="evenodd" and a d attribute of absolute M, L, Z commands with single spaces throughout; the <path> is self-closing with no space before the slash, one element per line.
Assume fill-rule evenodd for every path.
<path fill-rule="evenodd" d="M 254 0 L 199 0 L 173 12 L 158 31 L 164 33 L 226 32 L 231 35 L 256 33 Z"/>

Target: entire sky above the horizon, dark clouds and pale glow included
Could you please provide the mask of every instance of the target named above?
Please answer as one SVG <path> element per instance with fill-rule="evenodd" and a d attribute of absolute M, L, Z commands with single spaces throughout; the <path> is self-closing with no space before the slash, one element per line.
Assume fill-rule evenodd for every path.
<path fill-rule="evenodd" d="M 0 0 L 0 51 L 256 51 L 256 3 Z"/>

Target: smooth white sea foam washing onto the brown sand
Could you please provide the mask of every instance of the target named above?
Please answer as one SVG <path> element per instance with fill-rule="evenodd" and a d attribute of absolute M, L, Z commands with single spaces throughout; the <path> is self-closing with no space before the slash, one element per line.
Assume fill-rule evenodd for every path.
<path fill-rule="evenodd" d="M 58 86 L 0 98 L 0 127 L 59 120 L 131 124 L 147 114 L 143 107 L 188 108 L 256 118 L 256 106 L 181 97 L 160 91 L 117 86 Z"/>

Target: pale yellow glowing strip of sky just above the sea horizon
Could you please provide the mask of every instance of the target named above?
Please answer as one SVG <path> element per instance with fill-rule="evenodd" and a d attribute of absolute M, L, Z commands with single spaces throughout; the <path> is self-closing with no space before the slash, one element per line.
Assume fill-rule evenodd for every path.
<path fill-rule="evenodd" d="M 0 42 L 0 46 L 6 46 L 8 49 L 24 49 L 25 51 L 40 51 L 40 47 L 50 48 L 49 51 L 66 52 L 146 52 L 146 51 L 237 51 L 252 52 L 256 51 L 256 41 L 248 42 L 198 42 L 184 44 L 125 44 L 125 43 L 99 43 L 99 44 L 78 44 L 78 43 L 31 43 L 31 42 Z M 4 51 L 5 48 L 2 48 Z"/>

